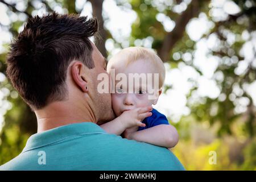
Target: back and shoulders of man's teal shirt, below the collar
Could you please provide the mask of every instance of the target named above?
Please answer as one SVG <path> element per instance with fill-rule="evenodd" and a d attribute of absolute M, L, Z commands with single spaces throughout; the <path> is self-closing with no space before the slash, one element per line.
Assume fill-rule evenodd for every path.
<path fill-rule="evenodd" d="M 38 165 L 38 152 L 42 150 L 46 151 L 47 165 Z M 183 170 L 184 168 L 167 148 L 123 139 L 118 135 L 107 133 L 84 135 L 22 152 L 0 167 L 0 170 L 40 169 Z"/>

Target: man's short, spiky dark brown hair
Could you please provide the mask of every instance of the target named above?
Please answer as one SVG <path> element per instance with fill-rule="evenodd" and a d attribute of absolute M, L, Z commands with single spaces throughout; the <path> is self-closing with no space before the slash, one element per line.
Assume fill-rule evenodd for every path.
<path fill-rule="evenodd" d="M 11 43 L 7 76 L 32 109 L 40 109 L 67 95 L 67 68 L 76 59 L 94 68 L 89 38 L 98 31 L 97 20 L 52 13 L 27 20 Z"/>

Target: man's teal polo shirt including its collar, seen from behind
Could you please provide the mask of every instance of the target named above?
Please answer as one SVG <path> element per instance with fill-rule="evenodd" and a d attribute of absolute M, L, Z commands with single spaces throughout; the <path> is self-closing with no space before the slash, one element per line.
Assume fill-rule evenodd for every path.
<path fill-rule="evenodd" d="M 0 170 L 184 170 L 167 148 L 108 134 L 82 122 L 32 135 Z"/>

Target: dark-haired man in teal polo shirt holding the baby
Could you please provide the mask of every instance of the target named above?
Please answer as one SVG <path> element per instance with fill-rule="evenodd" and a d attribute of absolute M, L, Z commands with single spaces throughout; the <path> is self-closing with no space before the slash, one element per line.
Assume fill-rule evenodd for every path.
<path fill-rule="evenodd" d="M 101 129 L 114 118 L 110 94 L 97 92 L 106 59 L 88 38 L 96 19 L 53 13 L 27 21 L 11 44 L 7 75 L 35 111 L 38 133 L 1 170 L 184 169 L 167 148 Z"/>

